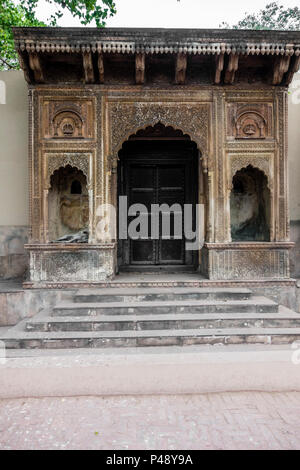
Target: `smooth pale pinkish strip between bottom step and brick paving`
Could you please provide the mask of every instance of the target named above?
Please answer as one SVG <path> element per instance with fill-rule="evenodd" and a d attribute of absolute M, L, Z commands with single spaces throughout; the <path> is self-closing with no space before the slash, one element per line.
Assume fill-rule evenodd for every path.
<path fill-rule="evenodd" d="M 287 346 L 13 358 L 0 366 L 0 398 L 300 391 L 292 354 Z"/>

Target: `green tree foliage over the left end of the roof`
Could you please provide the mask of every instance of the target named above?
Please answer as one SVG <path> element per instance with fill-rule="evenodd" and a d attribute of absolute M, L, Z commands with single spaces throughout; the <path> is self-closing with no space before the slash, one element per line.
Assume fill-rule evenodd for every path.
<path fill-rule="evenodd" d="M 14 49 L 13 26 L 57 26 L 65 12 L 70 12 L 80 23 L 95 22 L 97 27 L 105 26 L 107 18 L 116 13 L 114 0 L 45 0 L 55 7 L 46 21 L 36 16 L 40 0 L 0 0 L 0 70 L 19 68 Z"/>

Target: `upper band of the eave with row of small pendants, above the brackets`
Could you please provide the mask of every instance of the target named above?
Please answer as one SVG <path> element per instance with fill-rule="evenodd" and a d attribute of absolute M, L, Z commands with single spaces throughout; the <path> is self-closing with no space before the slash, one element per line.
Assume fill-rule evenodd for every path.
<path fill-rule="evenodd" d="M 27 52 L 300 55 L 300 31 L 127 28 L 14 28 Z"/>

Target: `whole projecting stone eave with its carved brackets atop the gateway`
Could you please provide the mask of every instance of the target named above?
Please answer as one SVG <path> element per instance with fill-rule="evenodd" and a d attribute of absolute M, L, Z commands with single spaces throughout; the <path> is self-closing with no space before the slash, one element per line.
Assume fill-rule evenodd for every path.
<path fill-rule="evenodd" d="M 118 58 L 119 65 L 129 67 L 134 57 L 133 75 L 139 85 L 147 83 L 147 74 L 151 74 L 152 65 L 147 67 L 147 60 L 150 64 L 150 60 L 155 60 L 151 57 L 160 57 L 166 66 L 174 57 L 171 75 L 174 84 L 179 85 L 189 81 L 191 75 L 199 75 L 200 68 L 209 71 L 212 78 L 207 81 L 232 85 L 239 69 L 246 70 L 248 66 L 252 70 L 260 68 L 261 73 L 263 68 L 271 69 L 271 85 L 288 85 L 300 66 L 300 31 L 18 27 L 14 28 L 14 38 L 30 83 L 50 83 L 46 62 L 51 62 L 53 76 L 53 64 L 59 56 L 68 57 L 66 65 L 72 61 L 75 64 L 78 56 L 82 57 L 83 74 L 78 81 L 86 83 L 106 81 L 107 70 L 113 70 L 108 61 L 105 63 L 109 57 Z M 264 58 L 264 62 L 255 64 L 255 57 Z M 110 81 L 111 75 L 108 76 Z M 68 80 L 62 80 L 58 71 L 57 81 Z M 252 77 L 251 83 L 254 81 L 261 78 Z"/>

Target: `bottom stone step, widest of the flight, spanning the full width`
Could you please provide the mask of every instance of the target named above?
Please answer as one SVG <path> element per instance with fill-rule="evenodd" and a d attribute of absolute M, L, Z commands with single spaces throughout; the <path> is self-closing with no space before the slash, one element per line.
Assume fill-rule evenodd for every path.
<path fill-rule="evenodd" d="M 7 349 L 66 349 L 195 344 L 290 344 L 300 328 L 222 328 L 144 331 L 24 332 L 9 330 L 1 337 Z"/>

